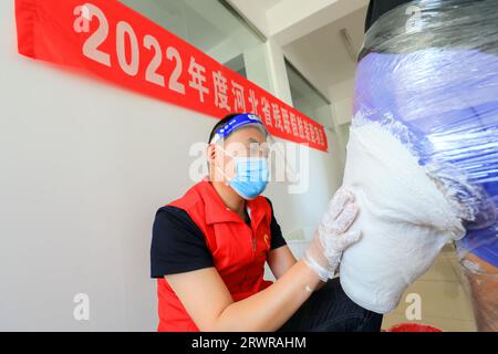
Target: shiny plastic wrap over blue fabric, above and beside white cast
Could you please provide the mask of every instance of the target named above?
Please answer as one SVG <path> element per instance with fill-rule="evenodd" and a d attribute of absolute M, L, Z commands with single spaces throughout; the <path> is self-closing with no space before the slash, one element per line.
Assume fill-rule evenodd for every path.
<path fill-rule="evenodd" d="M 367 32 L 353 127 L 381 123 L 450 200 L 467 230 L 458 241 L 461 264 L 470 278 L 484 277 L 479 284 L 492 284 L 486 289 L 492 306 L 476 295 L 476 316 L 481 329 L 497 331 L 498 1 L 407 6 Z"/>

